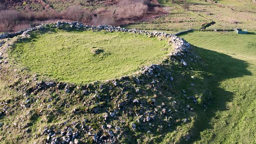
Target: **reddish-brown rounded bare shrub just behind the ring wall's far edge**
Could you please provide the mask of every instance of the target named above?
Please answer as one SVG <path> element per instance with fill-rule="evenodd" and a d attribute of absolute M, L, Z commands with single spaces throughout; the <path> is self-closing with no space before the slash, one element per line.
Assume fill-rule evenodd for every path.
<path fill-rule="evenodd" d="M 92 19 L 92 13 L 80 5 L 75 5 L 62 12 L 62 18 L 86 23 Z"/>

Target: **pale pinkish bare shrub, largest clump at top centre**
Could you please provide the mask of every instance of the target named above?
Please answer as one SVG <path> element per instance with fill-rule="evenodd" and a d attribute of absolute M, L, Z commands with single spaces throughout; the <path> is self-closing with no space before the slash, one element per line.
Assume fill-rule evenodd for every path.
<path fill-rule="evenodd" d="M 138 0 L 121 0 L 116 9 L 118 19 L 141 17 L 148 11 L 148 6 Z"/>

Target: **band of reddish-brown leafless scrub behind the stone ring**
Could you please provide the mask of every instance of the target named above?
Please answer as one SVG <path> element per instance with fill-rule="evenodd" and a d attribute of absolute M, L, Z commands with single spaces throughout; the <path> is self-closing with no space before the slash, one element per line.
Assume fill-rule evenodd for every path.
<path fill-rule="evenodd" d="M 44 10 L 36 13 L 31 10 L 6 10 L 6 7 L 0 4 L 0 32 L 18 31 L 27 28 L 30 22 L 49 20 L 72 20 L 89 25 L 117 26 L 161 16 L 167 11 L 169 10 L 159 7 L 157 0 L 118 0 L 115 7 L 99 8 L 94 11 L 75 5 L 61 12 Z"/>

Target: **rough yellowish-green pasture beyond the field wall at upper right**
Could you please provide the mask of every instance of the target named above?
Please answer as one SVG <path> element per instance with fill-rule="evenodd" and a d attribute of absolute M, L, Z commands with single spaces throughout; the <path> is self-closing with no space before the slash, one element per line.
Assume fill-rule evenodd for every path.
<path fill-rule="evenodd" d="M 177 2 L 179 0 L 176 0 Z M 161 1 L 160 1 L 161 2 Z M 183 3 L 171 3 L 171 0 L 161 2 L 161 5 L 170 7 L 170 14 L 127 26 L 138 29 L 184 30 L 199 29 L 203 23 L 215 21 L 216 24 L 207 29 L 234 29 L 245 28 L 256 30 L 256 5 L 248 1 L 225 0 L 224 3 L 213 4 L 201 0 L 186 0 L 189 10 L 184 10 Z M 232 10 L 232 9 L 233 10 Z M 238 22 L 238 23 L 233 23 Z"/>

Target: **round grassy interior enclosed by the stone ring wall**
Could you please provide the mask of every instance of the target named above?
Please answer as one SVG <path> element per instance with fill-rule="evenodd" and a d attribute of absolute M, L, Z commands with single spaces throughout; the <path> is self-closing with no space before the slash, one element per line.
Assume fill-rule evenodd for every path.
<path fill-rule="evenodd" d="M 10 55 L 32 73 L 80 83 L 130 75 L 141 66 L 161 62 L 168 47 L 166 40 L 145 35 L 58 31 L 18 43 Z"/>

